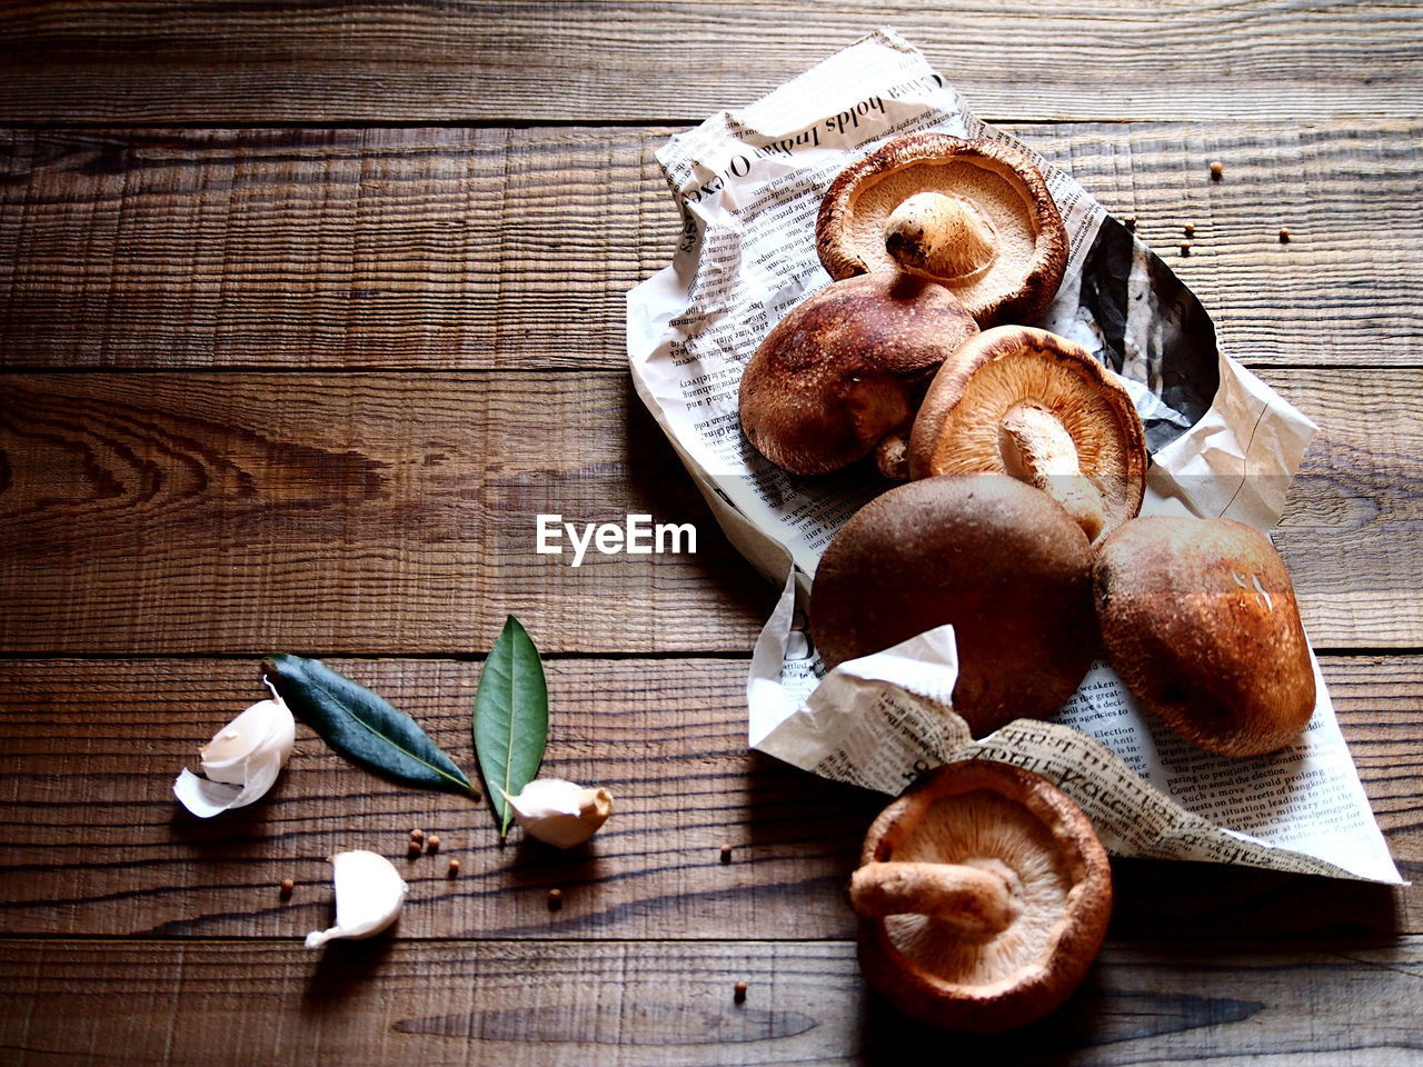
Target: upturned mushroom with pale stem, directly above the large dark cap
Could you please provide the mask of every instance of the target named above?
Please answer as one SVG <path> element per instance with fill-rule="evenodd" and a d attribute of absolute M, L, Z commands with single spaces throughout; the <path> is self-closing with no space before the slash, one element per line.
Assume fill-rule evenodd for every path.
<path fill-rule="evenodd" d="M 1006 472 L 1100 541 L 1141 509 L 1147 445 L 1131 394 L 1086 349 L 998 326 L 943 363 L 909 437 L 909 475 Z"/>

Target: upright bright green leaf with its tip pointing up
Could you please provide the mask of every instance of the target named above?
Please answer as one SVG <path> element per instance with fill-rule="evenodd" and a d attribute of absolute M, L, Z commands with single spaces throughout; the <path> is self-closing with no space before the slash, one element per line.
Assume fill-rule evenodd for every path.
<path fill-rule="evenodd" d="M 515 797 L 534 781 L 548 741 L 548 683 L 544 662 L 512 615 L 504 622 L 474 694 L 474 751 L 499 822 L 509 832 Z"/>

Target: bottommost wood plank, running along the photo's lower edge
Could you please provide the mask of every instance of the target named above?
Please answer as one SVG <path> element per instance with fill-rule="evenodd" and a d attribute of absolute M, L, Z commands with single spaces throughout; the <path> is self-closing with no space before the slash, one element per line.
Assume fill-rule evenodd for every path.
<path fill-rule="evenodd" d="M 946 1037 L 868 993 L 847 942 L 377 940 L 317 957 L 252 942 L 0 942 L 0 1046 L 17 1067 L 124 1063 L 1417 1061 L 1423 943 L 1109 943 L 1054 1014 Z M 744 1004 L 733 1003 L 747 982 Z M 147 1004 L 144 1013 L 134 1003 Z M 931 1060 L 933 1061 L 933 1060 Z"/>

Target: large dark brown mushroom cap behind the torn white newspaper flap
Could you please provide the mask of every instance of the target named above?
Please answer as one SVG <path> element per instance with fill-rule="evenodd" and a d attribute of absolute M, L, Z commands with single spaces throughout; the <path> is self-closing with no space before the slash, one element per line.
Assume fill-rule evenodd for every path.
<path fill-rule="evenodd" d="M 1096 650 L 1087 535 L 1046 494 L 1005 475 L 896 485 L 821 556 L 811 633 L 827 667 L 953 623 L 953 710 L 975 737 L 1043 718 Z"/>

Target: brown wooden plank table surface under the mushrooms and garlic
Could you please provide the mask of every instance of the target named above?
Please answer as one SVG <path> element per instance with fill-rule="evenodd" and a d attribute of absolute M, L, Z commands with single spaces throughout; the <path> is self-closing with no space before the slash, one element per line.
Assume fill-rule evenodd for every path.
<path fill-rule="evenodd" d="M 1417 878 L 1420 11 L 6 6 L 0 1061 L 1419 1063 L 1416 888 L 1121 861 L 1103 956 L 1049 1020 L 943 1039 L 867 993 L 842 886 L 882 798 L 747 751 L 774 590 L 638 403 L 623 297 L 675 248 L 667 135 L 898 28 L 1136 215 L 1322 427 L 1278 541 Z M 693 522 L 699 552 L 573 569 L 535 553 L 538 512 Z M 305 727 L 263 802 L 174 802 L 269 652 L 377 689 L 472 771 L 509 612 L 546 657 L 545 774 L 618 797 L 589 851 L 499 848 L 484 805 Z M 305 950 L 324 856 L 401 856 L 413 825 L 460 876 L 398 859 L 396 936 Z"/>

